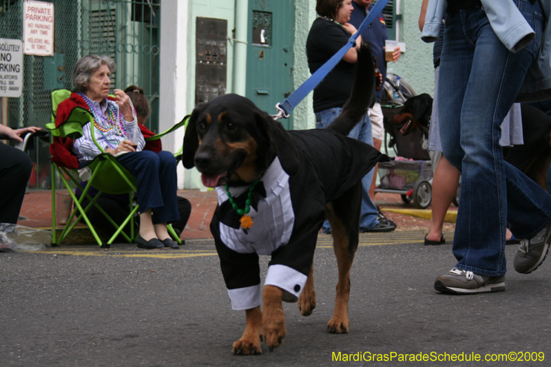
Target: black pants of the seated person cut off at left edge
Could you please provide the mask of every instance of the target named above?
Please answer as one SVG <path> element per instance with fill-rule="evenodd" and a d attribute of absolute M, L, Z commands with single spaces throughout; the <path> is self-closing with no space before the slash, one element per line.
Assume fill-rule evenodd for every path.
<path fill-rule="evenodd" d="M 17 224 L 31 172 L 24 151 L 0 143 L 0 223 Z"/>

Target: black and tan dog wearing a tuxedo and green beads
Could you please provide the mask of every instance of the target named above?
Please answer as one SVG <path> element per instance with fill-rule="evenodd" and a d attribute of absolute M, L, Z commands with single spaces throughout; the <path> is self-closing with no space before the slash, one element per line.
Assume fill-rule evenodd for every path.
<path fill-rule="evenodd" d="M 362 177 L 379 151 L 346 137 L 373 101 L 373 57 L 358 54 L 353 91 L 342 113 L 326 129 L 287 132 L 249 99 L 214 98 L 191 114 L 183 164 L 197 167 L 202 182 L 216 187 L 211 221 L 231 306 L 245 310 L 234 354 L 262 353 L 287 334 L 282 301 L 300 313 L 315 308 L 313 254 L 325 218 L 333 230 L 339 280 L 330 333 L 349 333 L 350 269 L 358 244 Z M 264 288 L 258 255 L 271 255 Z M 263 304 L 262 311 L 260 305 Z"/>

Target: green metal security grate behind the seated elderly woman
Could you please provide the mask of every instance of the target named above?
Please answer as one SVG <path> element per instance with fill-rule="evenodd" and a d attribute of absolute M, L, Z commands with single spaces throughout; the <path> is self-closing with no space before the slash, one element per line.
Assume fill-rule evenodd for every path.
<path fill-rule="evenodd" d="M 43 2 L 54 4 L 54 56 L 23 56 L 23 94 L 8 98 L 9 125 L 44 127 L 50 121 L 50 92 L 71 89 L 76 61 L 87 54 L 107 54 L 117 65 L 112 87 L 143 87 L 152 106 L 146 125 L 157 132 L 160 0 Z M 23 6 L 23 0 L 0 0 L 0 38 L 24 41 Z M 37 143 L 31 157 L 36 180 L 30 187 L 45 187 L 50 153 L 48 142 Z"/>

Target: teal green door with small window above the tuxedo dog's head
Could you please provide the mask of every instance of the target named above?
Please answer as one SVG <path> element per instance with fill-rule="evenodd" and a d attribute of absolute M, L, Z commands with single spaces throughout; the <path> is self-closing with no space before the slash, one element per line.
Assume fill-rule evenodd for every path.
<path fill-rule="evenodd" d="M 294 0 L 249 0 L 247 98 L 275 114 L 275 104 L 293 92 Z M 293 129 L 290 118 L 281 119 Z"/>

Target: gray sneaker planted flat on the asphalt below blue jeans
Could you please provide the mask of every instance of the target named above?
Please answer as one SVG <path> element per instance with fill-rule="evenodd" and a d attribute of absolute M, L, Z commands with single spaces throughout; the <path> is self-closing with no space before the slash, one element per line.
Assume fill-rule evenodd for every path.
<path fill-rule="evenodd" d="M 453 268 L 436 278 L 435 289 L 449 294 L 477 294 L 505 291 L 505 275 L 489 277 Z"/>

